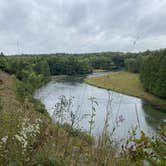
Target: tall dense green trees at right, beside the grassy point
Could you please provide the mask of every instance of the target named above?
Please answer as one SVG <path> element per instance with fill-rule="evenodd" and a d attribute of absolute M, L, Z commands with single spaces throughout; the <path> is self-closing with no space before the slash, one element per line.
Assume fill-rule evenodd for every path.
<path fill-rule="evenodd" d="M 140 73 L 146 91 L 166 98 L 166 49 L 146 51 L 127 58 L 125 68 L 129 72 Z"/>

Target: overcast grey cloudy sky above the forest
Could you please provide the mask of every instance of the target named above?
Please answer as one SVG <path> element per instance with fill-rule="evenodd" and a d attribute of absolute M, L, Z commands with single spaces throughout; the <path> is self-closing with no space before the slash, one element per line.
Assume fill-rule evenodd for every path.
<path fill-rule="evenodd" d="M 166 0 L 0 0 L 0 51 L 143 51 L 166 47 Z"/>

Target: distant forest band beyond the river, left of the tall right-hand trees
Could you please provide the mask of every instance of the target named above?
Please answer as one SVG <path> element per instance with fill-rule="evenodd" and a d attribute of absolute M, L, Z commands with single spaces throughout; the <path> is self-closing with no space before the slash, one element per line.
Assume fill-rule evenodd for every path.
<path fill-rule="evenodd" d="M 49 76 L 88 74 L 93 69 L 117 70 L 124 68 L 125 58 L 126 55 L 122 53 L 1 55 L 0 69 L 24 80 L 24 77 L 27 78 L 27 71 Z"/>

